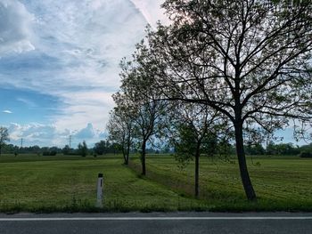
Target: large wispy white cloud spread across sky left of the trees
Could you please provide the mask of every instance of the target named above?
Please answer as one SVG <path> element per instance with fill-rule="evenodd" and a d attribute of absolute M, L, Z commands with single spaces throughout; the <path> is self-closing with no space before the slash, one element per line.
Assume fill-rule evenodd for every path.
<path fill-rule="evenodd" d="M 119 88 L 119 61 L 130 57 L 144 37 L 146 20 L 155 22 L 162 15 L 162 1 L 21 0 L 25 7 L 17 0 L 6 2 L 25 14 L 26 23 L 12 21 L 24 29 L 29 43 L 31 37 L 36 51 L 28 53 L 31 60 L 16 56 L 15 67 L 21 63 L 21 69 L 0 73 L 0 85 L 62 101 L 49 117 L 56 131 L 82 129 L 90 122 L 103 130 L 114 105 L 111 94 Z M 27 99 L 20 101 L 33 106 Z"/>

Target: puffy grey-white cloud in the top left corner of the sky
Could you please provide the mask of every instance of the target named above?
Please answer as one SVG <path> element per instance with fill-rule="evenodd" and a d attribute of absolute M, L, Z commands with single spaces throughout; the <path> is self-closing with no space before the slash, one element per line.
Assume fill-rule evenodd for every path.
<path fill-rule="evenodd" d="M 30 42 L 30 23 L 34 19 L 17 0 L 0 0 L 0 56 L 35 49 Z"/>

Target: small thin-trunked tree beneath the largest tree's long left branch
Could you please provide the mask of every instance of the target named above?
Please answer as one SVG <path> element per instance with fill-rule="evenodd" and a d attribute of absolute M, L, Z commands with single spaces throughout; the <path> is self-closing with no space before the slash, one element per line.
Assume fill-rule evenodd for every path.
<path fill-rule="evenodd" d="M 176 134 L 171 135 L 171 141 L 176 149 L 177 160 L 183 165 L 195 158 L 195 197 L 200 194 L 200 157 L 201 154 L 214 155 L 217 149 L 218 131 L 223 125 L 218 112 L 206 105 L 179 103 L 175 105 L 173 119 L 176 119 Z M 173 110 L 173 108 L 171 109 Z"/>

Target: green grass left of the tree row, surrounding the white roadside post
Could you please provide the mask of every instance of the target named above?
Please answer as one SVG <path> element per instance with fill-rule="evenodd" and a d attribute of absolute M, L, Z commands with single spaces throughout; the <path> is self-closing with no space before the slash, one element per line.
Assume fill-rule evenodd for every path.
<path fill-rule="evenodd" d="M 97 174 L 104 174 L 103 208 L 95 207 Z M 207 210 L 205 201 L 185 197 L 142 179 L 120 156 L 0 157 L 0 212 L 129 212 Z"/>

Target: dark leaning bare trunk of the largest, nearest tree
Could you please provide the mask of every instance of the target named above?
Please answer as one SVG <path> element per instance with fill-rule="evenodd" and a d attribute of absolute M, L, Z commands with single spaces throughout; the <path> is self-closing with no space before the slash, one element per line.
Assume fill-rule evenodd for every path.
<path fill-rule="evenodd" d="M 238 163 L 240 165 L 240 173 L 242 179 L 243 189 L 245 194 L 250 201 L 257 199 L 255 190 L 252 187 L 250 181 L 250 175 L 248 173 L 245 150 L 243 146 L 243 137 L 242 137 L 242 122 L 234 125 L 235 127 L 235 141 L 236 141 L 236 154 L 238 158 Z"/>

